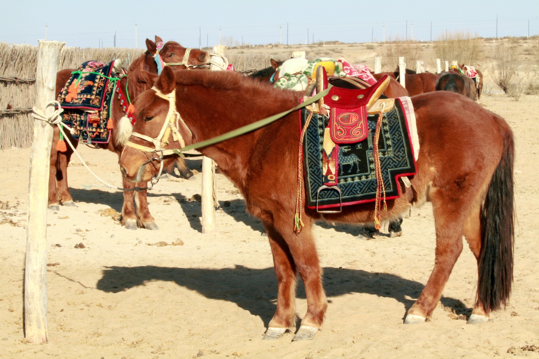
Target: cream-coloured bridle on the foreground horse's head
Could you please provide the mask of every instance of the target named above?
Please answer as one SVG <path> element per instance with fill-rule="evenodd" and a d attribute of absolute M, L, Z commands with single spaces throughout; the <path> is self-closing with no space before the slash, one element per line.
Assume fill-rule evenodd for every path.
<path fill-rule="evenodd" d="M 139 168 L 137 179 L 140 179 L 144 166 L 146 166 L 150 162 L 153 163 L 153 161 L 159 161 L 160 167 L 159 167 L 159 172 L 157 174 L 157 177 L 152 178 L 150 181 L 151 185 L 153 186 L 159 181 L 159 178 L 161 177 L 161 173 L 163 171 L 164 156 L 170 156 L 171 154 L 178 154 L 177 150 L 163 149 L 163 147 L 169 143 L 170 135 L 172 134 L 172 140 L 174 142 L 179 142 L 180 147 L 185 147 L 185 140 L 183 139 L 181 133 L 179 133 L 178 131 L 179 123 L 182 123 L 183 128 L 185 129 L 186 132 L 189 133 L 189 136 L 191 136 L 191 138 L 192 138 L 192 133 L 191 133 L 191 130 L 189 130 L 188 126 L 183 121 L 183 118 L 179 115 L 178 111 L 176 110 L 176 89 L 172 90 L 172 92 L 169 94 L 163 94 L 155 86 L 152 87 L 151 89 L 155 91 L 155 94 L 157 96 L 164 98 L 165 100 L 168 100 L 169 110 L 167 112 L 167 117 L 165 117 L 165 121 L 163 122 L 161 131 L 159 132 L 159 135 L 157 135 L 157 137 L 151 138 L 149 136 L 142 135 L 141 133 L 137 133 L 137 132 L 132 132 L 131 136 L 139 137 L 147 142 L 153 143 L 154 148 L 139 145 L 134 142 L 128 141 L 125 147 L 123 147 L 123 149 L 125 150 L 126 147 L 133 147 L 134 149 L 140 150 L 142 152 L 151 153 L 151 157 L 148 157 L 148 160 L 144 162 L 144 164 Z M 122 156 L 123 156 L 123 151 L 121 153 L 120 160 Z M 182 156 L 181 153 L 180 153 L 180 156 Z"/>

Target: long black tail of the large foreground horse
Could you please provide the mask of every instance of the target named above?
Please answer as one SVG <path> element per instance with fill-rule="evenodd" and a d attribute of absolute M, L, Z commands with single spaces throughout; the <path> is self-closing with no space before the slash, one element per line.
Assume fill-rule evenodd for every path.
<path fill-rule="evenodd" d="M 481 252 L 477 304 L 485 311 L 507 305 L 513 282 L 514 202 L 513 133 L 507 123 L 495 116 L 503 138 L 503 152 L 481 208 Z"/>

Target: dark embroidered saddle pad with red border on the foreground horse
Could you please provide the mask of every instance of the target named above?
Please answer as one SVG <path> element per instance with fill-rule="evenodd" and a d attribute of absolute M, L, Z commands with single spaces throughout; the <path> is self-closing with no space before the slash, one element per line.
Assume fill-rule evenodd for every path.
<path fill-rule="evenodd" d="M 381 101 L 389 105 L 386 107 L 387 112 L 384 113 L 382 120 L 378 153 L 386 199 L 395 199 L 400 196 L 398 178 L 416 173 L 412 140 L 405 114 L 405 109 L 410 103 L 406 97 Z M 391 102 L 393 106 L 390 105 Z M 328 101 L 326 104 L 329 104 Z M 354 105 L 351 106 L 354 107 Z M 376 104 L 374 108 L 378 108 Z M 364 120 L 358 121 L 364 124 L 364 127 L 358 131 L 358 140 L 355 142 L 350 140 L 349 137 L 354 137 L 350 136 L 353 130 L 343 132 L 347 133 L 347 136 L 344 140 L 334 141 L 335 152 L 333 156 L 330 154 L 333 162 L 328 163 L 328 154 L 324 150 L 324 142 L 327 143 L 327 140 L 324 141 L 324 135 L 331 136 L 330 117 L 313 113 L 303 143 L 303 166 L 309 208 L 329 209 L 375 201 L 377 181 L 373 138 L 378 115 L 378 112 L 369 114 L 367 111 L 357 115 L 357 119 L 364 116 Z M 309 110 L 300 110 L 301 128 L 305 125 L 308 116 Z M 331 177 L 331 166 L 334 167 L 333 173 L 336 174 L 334 177 Z M 319 191 L 324 185 L 330 185 L 330 188 Z M 338 187 L 340 193 L 331 186 Z"/>

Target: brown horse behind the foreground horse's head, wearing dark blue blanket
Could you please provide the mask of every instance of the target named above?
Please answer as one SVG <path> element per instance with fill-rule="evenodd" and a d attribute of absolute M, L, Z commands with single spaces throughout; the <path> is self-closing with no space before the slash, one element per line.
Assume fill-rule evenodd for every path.
<path fill-rule="evenodd" d="M 139 58 L 135 59 L 127 76 L 122 78 L 119 81 L 119 86 L 122 89 L 127 88 L 129 98 L 134 100 L 142 91 L 149 89 L 151 86 L 146 82 L 146 78 L 143 76 L 143 71 L 151 72 L 157 74 L 157 65 L 155 62 L 155 54 L 157 51 L 156 44 L 158 41 L 163 41 L 160 37 L 155 37 L 154 41 L 146 39 L 147 51 L 143 53 Z M 168 41 L 161 48 L 159 54 L 165 63 L 179 62 L 184 58 L 186 48 L 179 45 L 175 41 Z M 189 53 L 189 63 L 176 68 L 187 68 L 188 66 L 198 66 L 198 67 L 208 67 L 209 54 L 192 49 Z M 184 61 L 182 61 L 184 62 Z M 58 97 L 61 89 L 65 86 L 66 82 L 71 78 L 71 73 L 74 69 L 64 69 L 57 73 L 56 79 L 56 97 Z M 127 86 L 127 87 L 126 87 Z M 113 101 L 111 112 L 111 118 L 113 120 L 114 129 L 112 130 L 111 139 L 108 144 L 98 145 L 102 149 L 108 149 L 113 151 L 118 156 L 120 156 L 121 151 L 123 150 L 123 144 L 129 137 L 130 130 L 132 128 L 131 124 L 127 121 L 120 122 L 120 119 L 123 116 L 122 106 L 119 101 Z M 54 136 L 51 147 L 51 156 L 50 156 L 50 175 L 49 175 L 49 209 L 59 210 L 60 203 L 67 207 L 76 207 L 73 202 L 73 198 L 70 194 L 69 187 L 67 184 L 67 166 L 71 160 L 73 150 L 70 146 L 67 146 L 66 152 L 57 151 L 56 145 L 59 141 L 60 130 L 57 126 L 54 127 Z M 73 140 L 71 134 L 66 131 L 66 137 L 73 146 L 76 148 L 78 145 L 77 140 Z M 168 171 L 174 169 L 174 163 L 168 166 Z M 176 161 L 178 170 L 182 177 L 189 178 L 193 174 L 189 168 L 185 165 L 185 161 L 181 158 L 178 158 Z M 147 187 L 146 184 L 137 184 L 139 187 Z M 123 180 L 123 188 L 133 189 L 135 184 Z M 135 214 L 135 203 L 136 202 L 136 214 Z M 141 192 L 124 191 L 123 192 L 123 206 L 122 206 L 122 226 L 125 226 L 127 229 L 137 229 L 137 227 L 147 228 L 147 229 L 158 229 L 155 224 L 154 217 L 150 214 L 148 209 L 147 201 L 147 191 L 143 190 Z M 138 225 L 138 226 L 137 226 Z"/>

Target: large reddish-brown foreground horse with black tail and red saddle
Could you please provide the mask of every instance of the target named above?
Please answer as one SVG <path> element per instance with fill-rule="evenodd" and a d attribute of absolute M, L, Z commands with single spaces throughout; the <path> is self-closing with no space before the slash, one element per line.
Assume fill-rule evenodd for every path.
<path fill-rule="evenodd" d="M 136 100 L 133 134 L 158 137 L 169 121 L 168 114 L 177 111 L 185 144 L 292 109 L 303 96 L 224 71 L 174 73 L 165 68 L 161 76 L 154 77 L 155 90 Z M 468 323 L 485 322 L 491 311 L 506 305 L 513 280 L 513 133 L 503 118 L 459 94 L 435 91 L 414 96 L 412 102 L 420 150 L 417 174 L 410 178 L 411 202 L 432 202 L 436 258 L 430 278 L 404 322 L 423 322 L 432 314 L 462 251 L 462 236 L 479 271 L 477 300 Z M 151 145 L 134 135 L 129 141 Z M 311 231 L 314 221 L 321 216 L 331 222 L 354 223 L 374 218 L 372 202 L 321 215 L 304 201 L 300 213 L 305 227 L 299 233 L 294 231 L 299 141 L 298 113 L 292 112 L 263 128 L 200 149 L 240 189 L 247 209 L 266 229 L 278 299 L 265 339 L 277 339 L 295 326 L 297 273 L 305 284 L 307 313 L 294 340 L 312 339 L 322 325 L 328 305 Z M 170 142 L 170 148 L 174 147 L 177 142 Z M 155 175 L 158 164 L 147 161 L 147 155 L 126 146 L 120 166 L 128 180 L 148 181 Z M 163 159 L 165 165 L 172 160 Z M 403 192 L 410 191 L 401 187 Z M 410 205 L 406 195 L 388 201 L 382 220 L 395 219 Z"/>

